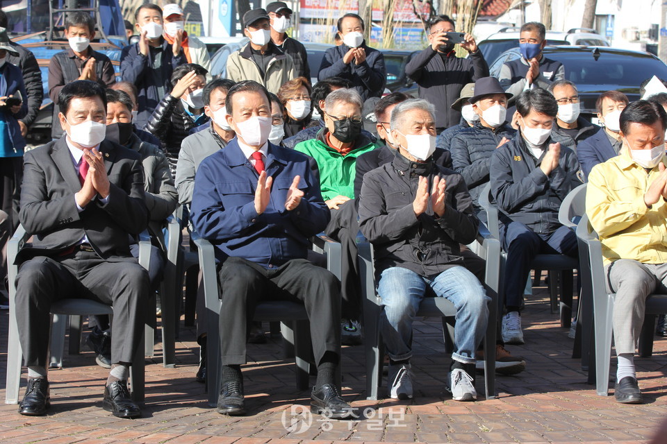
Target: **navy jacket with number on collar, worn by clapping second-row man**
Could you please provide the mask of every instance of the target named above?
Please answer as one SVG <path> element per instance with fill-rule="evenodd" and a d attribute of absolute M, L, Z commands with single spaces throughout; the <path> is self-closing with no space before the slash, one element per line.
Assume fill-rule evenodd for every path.
<path fill-rule="evenodd" d="M 544 146 L 552 143 L 549 139 Z M 491 156 L 491 196 L 502 212 L 501 221 L 523 223 L 538 234 L 551 234 L 562 226 L 561 203 L 582 184 L 577 155 L 570 148 L 561 146 L 559 165 L 549 176 L 540 169 L 545 153 L 536 159 L 518 131 Z"/>

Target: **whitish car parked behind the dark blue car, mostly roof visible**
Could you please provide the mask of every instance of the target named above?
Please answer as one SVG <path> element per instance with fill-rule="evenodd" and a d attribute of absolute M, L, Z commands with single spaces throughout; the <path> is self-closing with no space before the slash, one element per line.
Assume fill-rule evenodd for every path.
<path fill-rule="evenodd" d="M 508 49 L 518 48 L 521 28 L 503 28 L 495 34 L 489 35 L 477 44 L 479 51 L 489 66 Z M 609 46 L 609 41 L 602 35 L 588 28 L 572 28 L 568 32 L 547 31 L 548 46 L 577 45 L 577 46 Z"/>

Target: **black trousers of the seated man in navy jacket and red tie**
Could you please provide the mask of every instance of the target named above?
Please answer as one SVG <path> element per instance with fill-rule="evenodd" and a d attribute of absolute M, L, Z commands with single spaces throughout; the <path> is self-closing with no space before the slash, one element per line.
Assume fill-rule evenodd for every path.
<path fill-rule="evenodd" d="M 240 257 L 227 258 L 220 271 L 222 365 L 245 364 L 246 341 L 261 300 L 289 300 L 306 306 L 315 363 L 325 352 L 338 356 L 340 287 L 336 276 L 306 259 L 264 268 Z"/>

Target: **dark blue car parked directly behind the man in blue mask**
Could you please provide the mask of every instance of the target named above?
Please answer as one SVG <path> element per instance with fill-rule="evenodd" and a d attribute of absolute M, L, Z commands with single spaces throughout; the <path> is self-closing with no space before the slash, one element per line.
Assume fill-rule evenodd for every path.
<path fill-rule="evenodd" d="M 630 101 L 639 100 L 639 85 L 652 77 L 667 78 L 667 65 L 659 58 L 642 51 L 600 46 L 546 47 L 544 55 L 558 60 L 565 67 L 565 77 L 577 85 L 582 116 L 597 121 L 595 101 L 610 89 L 627 95 Z M 504 62 L 521 57 L 518 48 L 500 55 L 489 67 L 497 77 Z"/>

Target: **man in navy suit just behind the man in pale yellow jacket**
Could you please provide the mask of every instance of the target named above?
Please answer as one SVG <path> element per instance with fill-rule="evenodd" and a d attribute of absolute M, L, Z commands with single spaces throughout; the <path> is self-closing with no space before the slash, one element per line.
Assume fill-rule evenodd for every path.
<path fill-rule="evenodd" d="M 588 137 L 577 147 L 577 158 L 584 171 L 584 179 L 595 165 L 607 162 L 616 157 L 623 145 L 620 137 L 620 112 L 625 110 L 629 103 L 627 96 L 620 91 L 607 91 L 600 94 L 595 107 L 598 108 L 598 119 L 602 128 L 591 137 Z"/>

